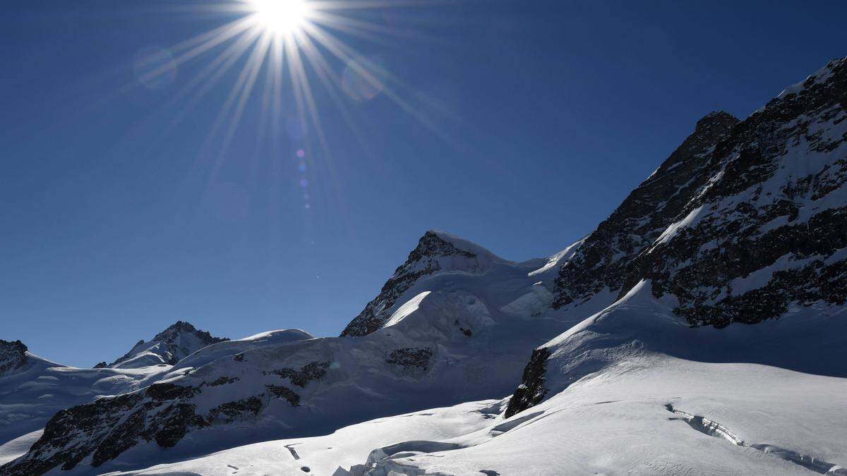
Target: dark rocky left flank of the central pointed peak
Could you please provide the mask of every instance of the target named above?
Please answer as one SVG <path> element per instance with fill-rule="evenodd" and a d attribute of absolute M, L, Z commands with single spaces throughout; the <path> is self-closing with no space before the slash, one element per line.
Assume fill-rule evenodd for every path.
<path fill-rule="evenodd" d="M 418 246 L 409 253 L 406 263 L 401 264 L 382 286 L 379 296 L 368 302 L 362 313 L 347 324 L 341 335 L 368 335 L 381 328 L 390 317 L 390 310 L 397 303 L 397 298 L 422 276 L 439 271 L 442 268 L 440 257 L 451 256 L 476 257 L 473 252 L 461 250 L 450 241 L 444 240 L 435 231 L 427 231 L 418 241 Z"/>

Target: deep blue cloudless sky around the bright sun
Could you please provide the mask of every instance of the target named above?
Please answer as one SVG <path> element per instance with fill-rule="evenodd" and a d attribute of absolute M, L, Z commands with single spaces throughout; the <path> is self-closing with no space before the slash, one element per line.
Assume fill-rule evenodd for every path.
<path fill-rule="evenodd" d="M 0 5 L 0 338 L 90 366 L 177 319 L 337 335 L 425 230 L 549 255 L 702 115 L 847 54 L 844 2 L 433 0 L 331 12 L 302 80 L 256 28 L 180 56 L 234 5 Z"/>

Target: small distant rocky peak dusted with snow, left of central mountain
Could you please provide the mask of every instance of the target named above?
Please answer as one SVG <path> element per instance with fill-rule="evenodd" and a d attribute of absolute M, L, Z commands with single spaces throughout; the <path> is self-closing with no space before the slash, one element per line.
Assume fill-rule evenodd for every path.
<path fill-rule="evenodd" d="M 113 368 L 141 368 L 150 365 L 174 365 L 191 352 L 205 346 L 229 340 L 225 337 L 213 337 L 205 330 L 177 321 L 168 329 L 158 333 L 152 340 L 139 340 L 135 346 L 109 365 Z M 98 366 L 103 367 L 98 364 Z"/>

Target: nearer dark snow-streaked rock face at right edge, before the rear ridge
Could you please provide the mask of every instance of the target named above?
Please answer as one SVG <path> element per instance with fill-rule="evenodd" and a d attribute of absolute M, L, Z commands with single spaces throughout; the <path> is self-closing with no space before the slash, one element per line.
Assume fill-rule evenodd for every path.
<path fill-rule="evenodd" d="M 739 123 L 679 213 L 685 226 L 636 257 L 625 287 L 650 279 L 690 324 L 717 327 L 776 318 L 791 302 L 844 304 L 845 119 L 841 59 Z"/>

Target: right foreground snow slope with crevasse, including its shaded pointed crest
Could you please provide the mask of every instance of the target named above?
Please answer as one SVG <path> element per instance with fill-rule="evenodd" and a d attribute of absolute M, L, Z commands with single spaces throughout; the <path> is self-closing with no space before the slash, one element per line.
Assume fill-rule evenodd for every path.
<path fill-rule="evenodd" d="M 692 329 L 676 305 L 639 283 L 545 346 L 545 401 L 461 436 L 397 441 L 345 469 L 847 474 L 847 312 L 797 307 L 756 326 Z M 804 365 L 841 378 L 779 366 L 808 351 Z"/>

